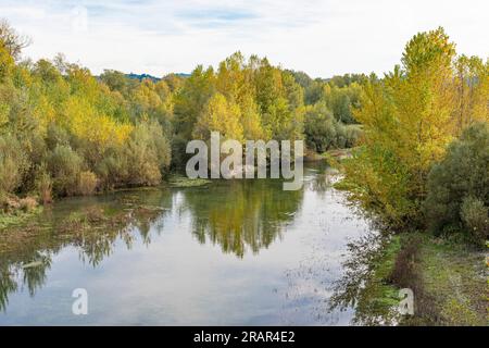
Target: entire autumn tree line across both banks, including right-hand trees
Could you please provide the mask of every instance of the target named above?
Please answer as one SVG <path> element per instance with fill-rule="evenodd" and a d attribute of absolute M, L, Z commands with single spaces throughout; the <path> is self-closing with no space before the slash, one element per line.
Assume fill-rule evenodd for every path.
<path fill-rule="evenodd" d="M 0 24 L 0 197 L 91 195 L 158 185 L 190 139 L 304 139 L 354 147 L 343 186 L 390 226 L 488 233 L 489 63 L 459 55 L 442 28 L 419 33 L 383 77 L 313 79 L 240 52 L 190 75 L 100 76 L 21 60 L 27 38 Z M 22 208 L 21 207 L 21 208 Z"/>

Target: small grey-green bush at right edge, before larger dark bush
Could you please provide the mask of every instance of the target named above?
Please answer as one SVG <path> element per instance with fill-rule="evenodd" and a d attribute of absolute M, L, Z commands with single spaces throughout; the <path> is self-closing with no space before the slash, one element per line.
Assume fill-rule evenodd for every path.
<path fill-rule="evenodd" d="M 461 217 L 472 239 L 477 244 L 484 244 L 489 236 L 488 207 L 480 199 L 472 196 L 462 202 Z"/>

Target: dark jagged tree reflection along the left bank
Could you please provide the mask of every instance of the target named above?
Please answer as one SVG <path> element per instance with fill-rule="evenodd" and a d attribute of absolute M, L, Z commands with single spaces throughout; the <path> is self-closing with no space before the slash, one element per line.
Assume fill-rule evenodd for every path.
<path fill-rule="evenodd" d="M 138 233 L 149 244 L 151 227 L 162 231 L 162 216 L 171 204 L 171 195 L 160 189 L 76 198 L 4 232 L 0 237 L 0 310 L 7 309 L 10 294 L 24 287 L 34 296 L 45 285 L 52 257 L 65 247 L 76 247 L 80 260 L 96 268 L 112 253 L 116 240 L 130 249 Z"/>

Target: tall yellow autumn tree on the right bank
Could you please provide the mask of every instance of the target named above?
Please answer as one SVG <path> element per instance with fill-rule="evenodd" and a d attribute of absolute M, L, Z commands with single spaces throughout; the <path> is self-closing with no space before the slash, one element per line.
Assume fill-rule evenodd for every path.
<path fill-rule="evenodd" d="M 371 78 L 362 92 L 354 116 L 363 124 L 364 142 L 346 163 L 346 183 L 390 224 L 416 222 L 429 170 L 457 135 L 457 114 L 465 124 L 485 113 L 478 101 L 484 97 L 476 96 L 486 77 L 473 78 L 471 97 L 460 95 L 460 85 L 469 82 L 456 79 L 454 63 L 455 46 L 442 28 L 421 33 L 408 42 L 402 65 L 384 79 Z M 461 111 L 462 97 L 471 100 L 469 110 Z"/>

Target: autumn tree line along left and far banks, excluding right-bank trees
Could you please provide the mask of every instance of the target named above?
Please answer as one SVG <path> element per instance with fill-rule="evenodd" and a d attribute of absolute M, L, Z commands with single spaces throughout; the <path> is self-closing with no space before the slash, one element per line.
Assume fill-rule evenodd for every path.
<path fill-rule="evenodd" d="M 353 146 L 359 78 L 311 79 L 237 52 L 189 76 L 100 76 L 62 54 L 22 60 L 28 38 L 0 23 L 0 203 L 158 185 L 185 164 L 190 139 L 304 139 L 322 152 Z M 18 197 L 33 199 L 18 199 Z"/>

